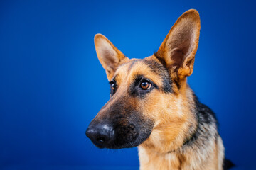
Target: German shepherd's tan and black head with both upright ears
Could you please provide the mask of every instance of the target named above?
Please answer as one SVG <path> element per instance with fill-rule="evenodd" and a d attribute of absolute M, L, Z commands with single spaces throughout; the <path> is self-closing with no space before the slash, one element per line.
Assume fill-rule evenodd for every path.
<path fill-rule="evenodd" d="M 142 60 L 125 57 L 105 36 L 95 35 L 97 57 L 110 81 L 110 100 L 86 131 L 97 147 L 119 149 L 184 138 L 191 119 L 186 77 L 193 72 L 199 32 L 198 12 L 186 11 L 159 50 Z"/>

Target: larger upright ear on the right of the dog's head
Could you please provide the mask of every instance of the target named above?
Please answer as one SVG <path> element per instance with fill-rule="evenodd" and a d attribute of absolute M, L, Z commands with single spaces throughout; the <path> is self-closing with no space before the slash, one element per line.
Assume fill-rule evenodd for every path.
<path fill-rule="evenodd" d="M 193 72 L 199 32 L 199 13 L 194 9 L 188 10 L 174 23 L 155 53 L 176 81 L 185 79 Z"/>

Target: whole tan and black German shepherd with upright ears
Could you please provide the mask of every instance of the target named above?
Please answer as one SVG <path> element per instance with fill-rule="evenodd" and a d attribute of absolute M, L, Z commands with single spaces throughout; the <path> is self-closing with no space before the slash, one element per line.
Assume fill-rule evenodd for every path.
<path fill-rule="evenodd" d="M 198 48 L 200 18 L 188 10 L 159 50 L 129 59 L 101 34 L 97 57 L 110 81 L 110 100 L 86 130 L 99 148 L 139 148 L 141 170 L 223 169 L 217 120 L 187 84 Z"/>

